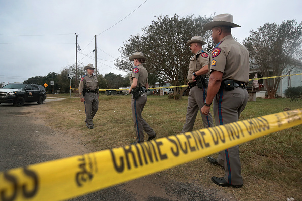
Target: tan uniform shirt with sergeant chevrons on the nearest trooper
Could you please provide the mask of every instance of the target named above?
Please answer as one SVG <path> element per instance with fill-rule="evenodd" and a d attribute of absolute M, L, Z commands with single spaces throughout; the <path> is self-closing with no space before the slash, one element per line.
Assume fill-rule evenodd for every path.
<path fill-rule="evenodd" d="M 212 50 L 210 71 L 223 73 L 222 80 L 249 82 L 249 52 L 232 35 L 225 36 Z"/>

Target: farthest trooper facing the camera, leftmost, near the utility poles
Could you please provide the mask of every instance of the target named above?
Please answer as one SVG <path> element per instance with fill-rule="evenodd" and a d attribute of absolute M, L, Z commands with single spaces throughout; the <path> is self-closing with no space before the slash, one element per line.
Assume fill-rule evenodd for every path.
<path fill-rule="evenodd" d="M 93 129 L 93 118 L 99 108 L 99 85 L 98 78 L 94 73 L 94 65 L 89 63 L 85 66 L 87 74 L 81 78 L 79 84 L 79 96 L 81 102 L 84 102 L 86 120 L 85 123 L 89 129 Z"/>

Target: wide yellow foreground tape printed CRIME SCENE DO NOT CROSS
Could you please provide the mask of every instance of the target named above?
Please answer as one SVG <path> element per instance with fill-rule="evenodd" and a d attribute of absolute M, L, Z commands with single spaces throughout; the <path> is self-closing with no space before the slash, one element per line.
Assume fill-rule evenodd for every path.
<path fill-rule="evenodd" d="M 302 108 L 0 172 L 0 200 L 64 200 L 302 124 Z"/>

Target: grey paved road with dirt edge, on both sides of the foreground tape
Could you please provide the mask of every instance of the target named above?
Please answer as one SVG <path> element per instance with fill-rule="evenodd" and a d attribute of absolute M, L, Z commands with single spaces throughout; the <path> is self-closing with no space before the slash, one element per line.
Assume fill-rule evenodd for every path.
<path fill-rule="evenodd" d="M 42 105 L 26 103 L 23 107 L 0 104 L 0 171 L 62 157 L 62 153 L 55 152 L 43 141 L 44 138 L 52 138 L 57 133 L 37 117 L 35 111 L 39 111 L 39 107 L 47 107 L 47 102 Z M 55 143 L 52 146 L 55 146 Z M 234 199 L 214 189 L 205 189 L 194 183 L 173 182 L 153 174 L 71 200 Z"/>

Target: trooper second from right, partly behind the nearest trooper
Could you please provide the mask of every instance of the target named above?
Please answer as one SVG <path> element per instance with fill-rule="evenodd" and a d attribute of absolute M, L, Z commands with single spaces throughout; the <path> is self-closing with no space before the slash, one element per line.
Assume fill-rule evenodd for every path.
<path fill-rule="evenodd" d="M 193 130 L 197 113 L 203 107 L 203 103 L 206 98 L 209 54 L 207 51 L 202 49 L 202 45 L 204 44 L 206 44 L 206 42 L 203 41 L 201 36 L 193 36 L 191 40 L 186 43 L 186 46 L 190 47 L 191 52 L 194 55 L 190 60 L 187 76 L 187 84 L 190 88 L 190 92 L 188 97 L 186 123 L 183 126 L 182 132 Z M 204 84 L 202 84 L 201 81 L 203 81 Z M 202 113 L 200 114 L 204 127 L 212 127 L 212 115 L 210 113 L 207 115 Z"/>

